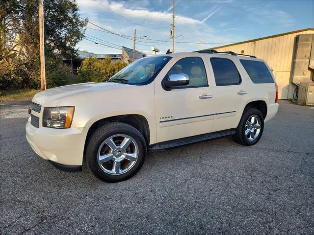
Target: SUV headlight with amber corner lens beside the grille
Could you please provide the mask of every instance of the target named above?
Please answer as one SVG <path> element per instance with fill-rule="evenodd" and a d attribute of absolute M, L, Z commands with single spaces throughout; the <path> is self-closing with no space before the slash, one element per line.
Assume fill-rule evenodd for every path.
<path fill-rule="evenodd" d="M 43 127 L 70 128 L 74 106 L 44 108 Z"/>

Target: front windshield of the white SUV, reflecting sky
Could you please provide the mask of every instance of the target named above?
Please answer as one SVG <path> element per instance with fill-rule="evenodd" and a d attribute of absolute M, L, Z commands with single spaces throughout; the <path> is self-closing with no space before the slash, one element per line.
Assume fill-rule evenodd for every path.
<path fill-rule="evenodd" d="M 169 56 L 154 56 L 136 60 L 113 75 L 108 82 L 121 82 L 132 85 L 149 84 L 170 59 Z"/>

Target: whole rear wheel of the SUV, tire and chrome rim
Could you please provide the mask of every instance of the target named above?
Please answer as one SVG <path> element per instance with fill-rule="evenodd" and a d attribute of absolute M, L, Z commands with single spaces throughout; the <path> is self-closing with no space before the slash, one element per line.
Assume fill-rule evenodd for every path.
<path fill-rule="evenodd" d="M 252 117 L 254 117 L 254 124 L 252 123 Z M 258 128 L 258 125 L 260 128 Z M 263 130 L 264 118 L 261 111 L 254 108 L 247 108 L 243 112 L 233 138 L 237 143 L 243 145 L 254 145 L 261 139 Z"/>

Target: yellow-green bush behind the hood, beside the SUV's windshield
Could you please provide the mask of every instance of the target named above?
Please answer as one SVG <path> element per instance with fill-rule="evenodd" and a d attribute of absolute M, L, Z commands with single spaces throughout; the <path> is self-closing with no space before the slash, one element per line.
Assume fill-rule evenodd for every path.
<path fill-rule="evenodd" d="M 109 57 L 100 60 L 90 56 L 82 62 L 80 73 L 84 82 L 105 82 L 126 66 L 121 61 L 111 62 Z"/>

